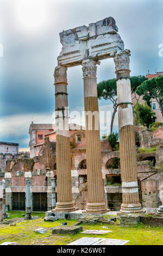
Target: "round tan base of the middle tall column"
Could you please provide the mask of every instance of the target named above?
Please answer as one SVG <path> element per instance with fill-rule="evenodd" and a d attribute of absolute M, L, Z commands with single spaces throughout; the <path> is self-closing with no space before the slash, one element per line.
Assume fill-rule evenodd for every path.
<path fill-rule="evenodd" d="M 106 208 L 105 203 L 87 203 L 85 209 L 85 213 L 87 214 L 104 214 L 104 212 L 108 211 L 110 211 L 110 209 Z"/>

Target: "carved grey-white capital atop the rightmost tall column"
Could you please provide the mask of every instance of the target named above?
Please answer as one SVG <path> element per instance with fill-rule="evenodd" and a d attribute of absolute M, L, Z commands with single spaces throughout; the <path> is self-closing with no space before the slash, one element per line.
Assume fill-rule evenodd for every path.
<path fill-rule="evenodd" d="M 129 70 L 130 50 L 123 50 L 113 53 L 116 71 Z"/>

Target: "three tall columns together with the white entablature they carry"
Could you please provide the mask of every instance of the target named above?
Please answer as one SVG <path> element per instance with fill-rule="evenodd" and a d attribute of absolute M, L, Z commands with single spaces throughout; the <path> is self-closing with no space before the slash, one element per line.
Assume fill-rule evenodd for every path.
<path fill-rule="evenodd" d="M 88 202 L 86 212 L 108 211 L 104 202 L 101 143 L 98 120 L 96 71 L 99 60 L 114 58 L 117 76 L 118 122 L 123 201 L 122 212 L 141 212 L 137 184 L 136 151 L 131 103 L 130 51 L 124 44 L 112 17 L 60 33 L 62 50 L 58 56 L 55 78 L 55 111 L 57 123 L 58 201 L 55 211 L 73 211 L 71 162 L 68 134 L 67 68 L 82 65 L 84 106 L 86 112 L 86 161 Z M 91 116 L 95 112 L 96 118 Z"/>

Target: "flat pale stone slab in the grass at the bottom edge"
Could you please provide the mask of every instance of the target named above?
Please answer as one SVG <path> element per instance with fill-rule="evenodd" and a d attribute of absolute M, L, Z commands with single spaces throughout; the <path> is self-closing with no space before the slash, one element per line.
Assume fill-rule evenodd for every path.
<path fill-rule="evenodd" d="M 104 239 L 99 237 L 82 237 L 68 245 L 124 245 L 129 240 Z"/>

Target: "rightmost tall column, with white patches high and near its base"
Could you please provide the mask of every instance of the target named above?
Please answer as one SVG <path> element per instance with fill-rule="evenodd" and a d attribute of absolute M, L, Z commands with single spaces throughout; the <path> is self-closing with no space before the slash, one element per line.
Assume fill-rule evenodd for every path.
<path fill-rule="evenodd" d="M 121 51 L 114 56 L 117 76 L 118 126 L 123 193 L 121 212 L 126 213 L 142 211 L 137 184 L 129 56 L 129 50 Z"/>

